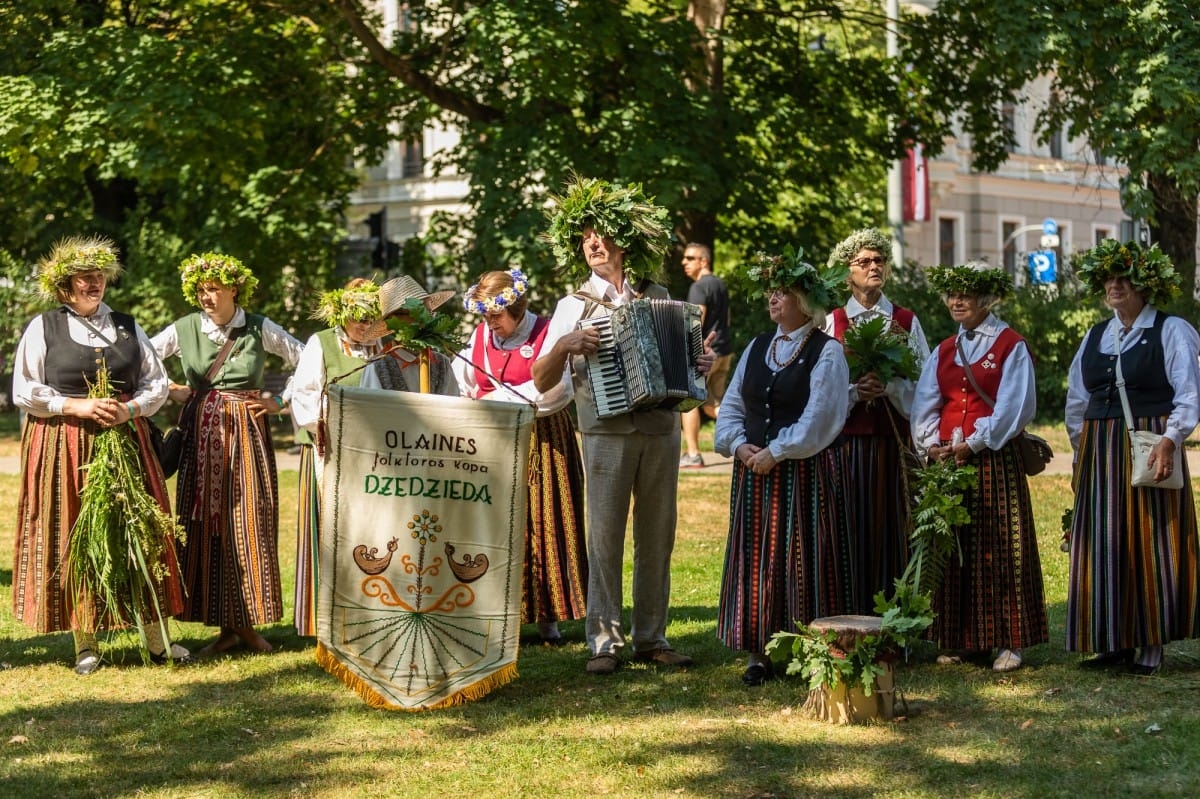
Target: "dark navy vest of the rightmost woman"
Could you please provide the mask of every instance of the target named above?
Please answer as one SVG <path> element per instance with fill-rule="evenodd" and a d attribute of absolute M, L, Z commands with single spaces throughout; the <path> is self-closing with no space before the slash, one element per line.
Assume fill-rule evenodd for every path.
<path fill-rule="evenodd" d="M 1121 372 L 1134 419 L 1166 416 L 1174 407 L 1175 391 L 1166 378 L 1166 358 L 1163 354 L 1163 322 L 1166 317 L 1158 311 L 1154 325 L 1142 329 L 1141 338 L 1121 354 Z M 1100 352 L 1100 338 L 1108 324 L 1102 322 L 1087 334 L 1087 347 L 1080 359 L 1084 388 L 1091 395 L 1084 419 L 1124 416 L 1121 392 L 1117 391 L 1116 355 Z"/>

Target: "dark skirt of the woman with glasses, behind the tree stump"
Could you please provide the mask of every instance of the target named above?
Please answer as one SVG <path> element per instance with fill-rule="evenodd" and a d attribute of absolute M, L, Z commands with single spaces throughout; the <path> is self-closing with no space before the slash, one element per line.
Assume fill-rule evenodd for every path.
<path fill-rule="evenodd" d="M 904 422 L 904 420 L 900 420 Z M 905 423 L 904 432 L 908 426 Z M 851 599 L 847 613 L 875 613 L 875 594 L 888 595 L 908 565 L 906 461 L 896 437 L 846 435 L 820 456 L 824 469 L 841 469 L 834 485 L 847 533 Z"/>

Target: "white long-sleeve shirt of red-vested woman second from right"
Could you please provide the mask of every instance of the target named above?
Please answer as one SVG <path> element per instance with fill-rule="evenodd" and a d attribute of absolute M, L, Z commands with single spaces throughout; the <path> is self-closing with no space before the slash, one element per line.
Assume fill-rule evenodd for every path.
<path fill-rule="evenodd" d="M 967 362 L 978 364 L 996 344 L 996 338 L 1006 328 L 1008 328 L 1007 323 L 990 313 L 974 329 L 973 336 L 970 338 L 965 335 L 966 330 L 960 326 L 958 340 L 962 342 L 962 352 L 966 353 Z M 941 443 L 938 426 L 942 420 L 942 389 L 937 384 L 940 350 L 941 348 L 935 348 L 925 361 L 925 366 L 922 367 L 920 379 L 917 380 L 917 391 L 913 395 L 912 438 L 922 451 Z M 956 348 L 954 362 L 962 365 Z M 1033 358 L 1030 355 L 1030 348 L 1022 341 L 1012 349 L 1004 360 L 1000 390 L 995 397 L 991 397 L 996 402 L 991 415 L 977 419 L 974 431 L 966 438 L 972 452 L 982 452 L 984 449 L 998 450 L 1033 421 L 1038 409 L 1036 385 Z"/>

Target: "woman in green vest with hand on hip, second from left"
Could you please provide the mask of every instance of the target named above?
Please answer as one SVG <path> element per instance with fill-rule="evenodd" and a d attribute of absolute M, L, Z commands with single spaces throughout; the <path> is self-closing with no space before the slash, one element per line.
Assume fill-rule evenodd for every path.
<path fill-rule="evenodd" d="M 258 278 L 236 258 L 192 256 L 179 272 L 184 299 L 199 312 L 176 319 L 152 341 L 161 358 L 182 361 L 187 385 L 172 385 L 172 400 L 198 395 L 187 405 L 191 433 L 175 480 L 175 510 L 187 531 L 180 557 L 187 585 L 181 618 L 220 627 L 200 656 L 242 645 L 266 653 L 271 644 L 254 627 L 283 615 L 278 485 L 268 417 L 284 403 L 263 397 L 263 370 L 268 353 L 294 367 L 301 346 L 276 323 L 242 308 Z M 230 337 L 232 348 L 208 380 Z"/>

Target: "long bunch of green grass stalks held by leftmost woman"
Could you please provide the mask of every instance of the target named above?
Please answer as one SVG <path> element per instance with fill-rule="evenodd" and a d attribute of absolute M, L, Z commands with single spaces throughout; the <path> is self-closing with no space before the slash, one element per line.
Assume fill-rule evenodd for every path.
<path fill-rule="evenodd" d="M 88 396 L 113 396 L 107 366 L 101 366 Z M 83 631 L 95 632 L 101 621 L 133 624 L 145 660 L 148 624 L 160 625 L 162 639 L 170 639 L 161 605 L 164 554 L 174 540 L 182 541 L 184 530 L 146 491 L 145 467 L 132 431 L 130 422 L 96 434 L 91 461 L 84 467 L 65 583 L 82 611 Z"/>

